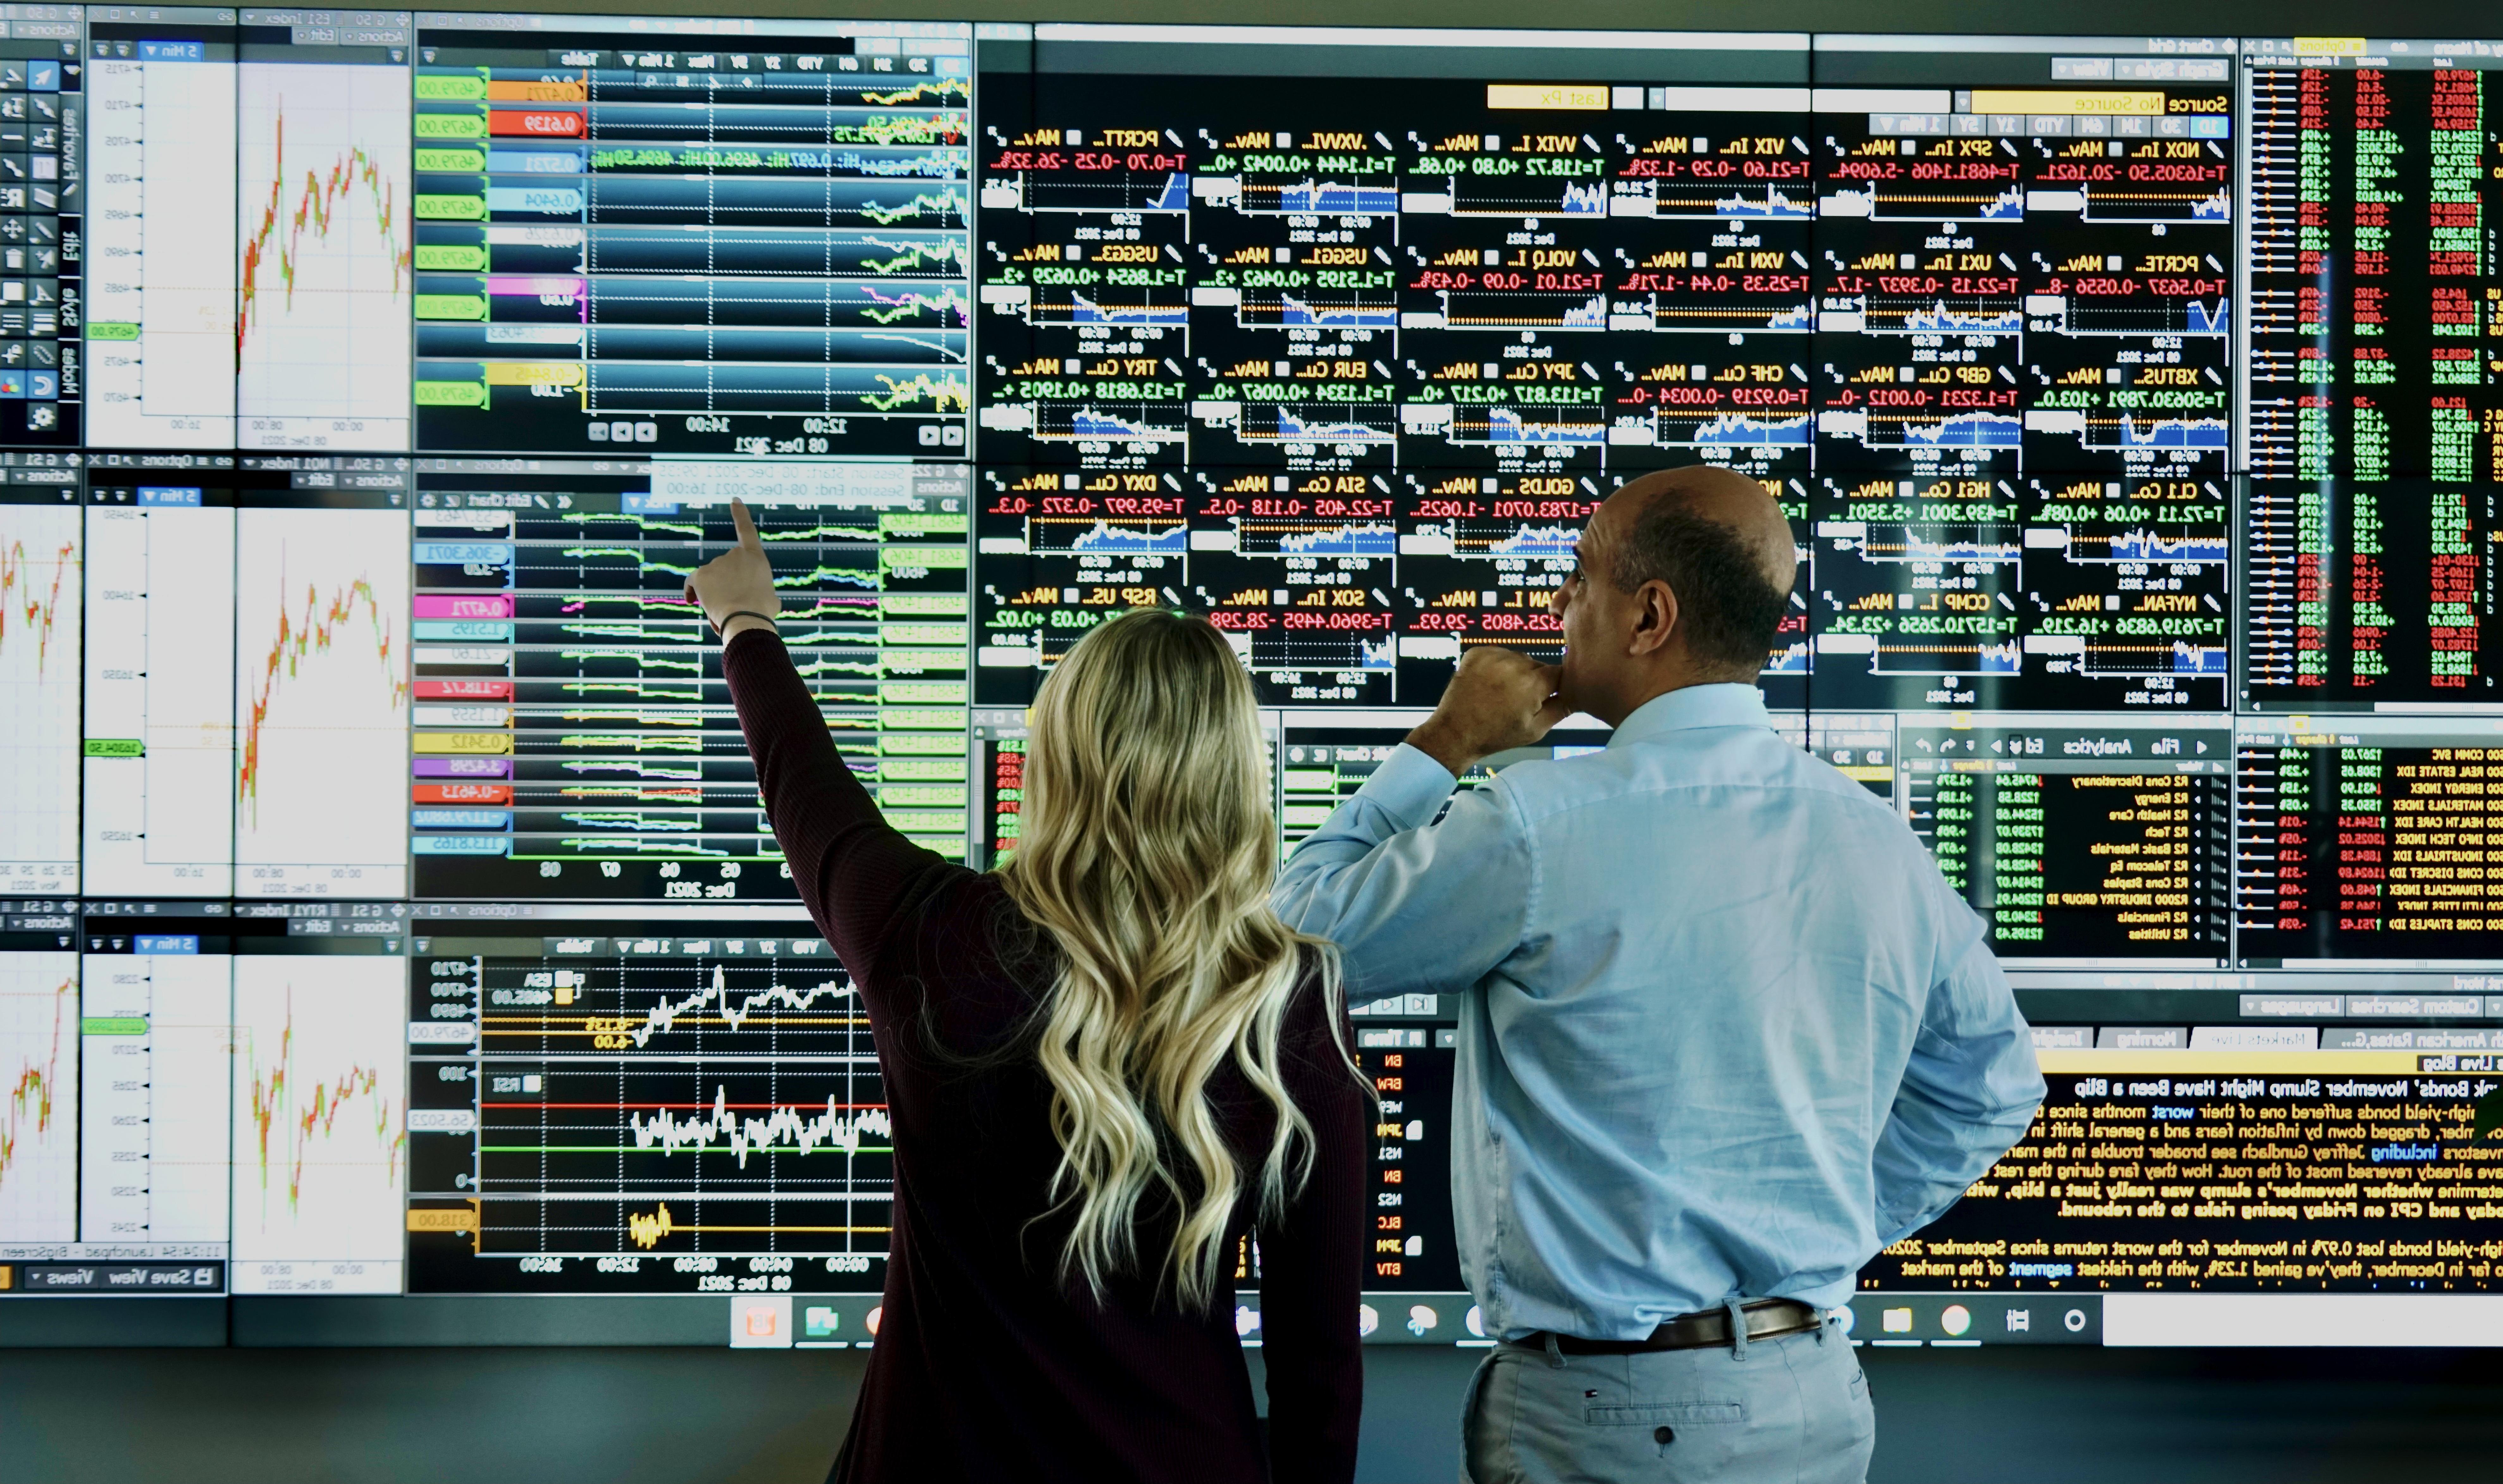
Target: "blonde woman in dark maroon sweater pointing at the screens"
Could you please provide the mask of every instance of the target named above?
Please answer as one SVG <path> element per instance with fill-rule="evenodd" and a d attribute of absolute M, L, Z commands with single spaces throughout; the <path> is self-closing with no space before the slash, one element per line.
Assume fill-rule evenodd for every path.
<path fill-rule="evenodd" d="M 1086 636 L 1034 708 L 1016 858 L 966 871 L 836 756 L 731 511 L 688 596 L 894 1119 L 886 1314 L 833 1479 L 1352 1479 L 1367 1094 L 1337 961 L 1269 911 L 1269 768 L 1224 636 L 1161 611 Z"/>

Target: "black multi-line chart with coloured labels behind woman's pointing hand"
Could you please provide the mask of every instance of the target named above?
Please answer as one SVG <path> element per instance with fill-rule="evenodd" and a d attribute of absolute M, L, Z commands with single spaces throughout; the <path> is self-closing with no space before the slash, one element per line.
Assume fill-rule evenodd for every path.
<path fill-rule="evenodd" d="M 776 553 L 796 666 L 854 766 L 879 768 L 884 751 L 914 746 L 879 733 L 951 721 L 924 708 L 964 703 L 966 516 L 934 508 L 936 498 L 896 501 L 899 480 L 879 470 L 803 468 L 806 478 L 773 475 L 771 490 L 756 488 L 756 475 L 736 478 Z M 616 483 L 641 480 L 621 473 Z M 696 496 L 576 488 L 561 511 L 438 513 L 461 523 L 466 543 L 415 546 L 418 778 L 436 778 L 428 753 L 441 746 L 483 746 L 493 758 L 478 761 L 513 778 L 508 811 L 413 813 L 421 893 L 691 896 L 683 866 L 696 863 L 711 893 L 788 893 L 776 871 L 781 848 L 756 808 L 753 763 L 706 658 L 711 631 L 681 593 L 686 573 L 721 551 L 726 511 L 711 496 L 673 493 Z M 421 511 L 421 528 L 431 518 Z M 488 598 L 463 571 L 486 551 L 501 553 L 496 576 L 511 593 Z M 446 638 L 436 618 L 461 603 L 511 621 L 516 651 L 488 661 L 511 666 L 508 676 L 486 678 L 473 658 L 426 643 Z M 428 706 L 451 696 L 496 706 Z M 458 741 L 438 741 L 448 733 L 436 726 L 458 726 Z M 961 756 L 964 743 L 946 746 Z M 924 791 L 909 811 L 894 798 L 891 818 L 961 853 L 961 776 L 959 763 L 946 798 Z M 638 781 L 686 788 L 658 793 L 633 788 Z M 413 803 L 481 801 L 421 788 Z"/>

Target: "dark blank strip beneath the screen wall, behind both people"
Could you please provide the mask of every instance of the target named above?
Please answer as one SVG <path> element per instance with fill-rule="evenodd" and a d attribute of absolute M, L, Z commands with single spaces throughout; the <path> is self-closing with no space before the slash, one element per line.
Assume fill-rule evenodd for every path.
<path fill-rule="evenodd" d="M 1862 1351 L 1880 1484 L 2493 1479 L 2495 1351 Z M 1454 1476 L 1474 1356 L 1367 1356 L 1359 1479 Z M 861 1359 L 728 1349 L 0 1351 L 10 1484 L 813 1484 Z"/>

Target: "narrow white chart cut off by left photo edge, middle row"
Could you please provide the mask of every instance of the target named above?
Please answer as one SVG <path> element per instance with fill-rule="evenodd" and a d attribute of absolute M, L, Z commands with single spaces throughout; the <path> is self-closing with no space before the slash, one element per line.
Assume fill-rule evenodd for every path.
<path fill-rule="evenodd" d="M 78 511 L 0 506 L 0 893 L 78 886 Z"/>

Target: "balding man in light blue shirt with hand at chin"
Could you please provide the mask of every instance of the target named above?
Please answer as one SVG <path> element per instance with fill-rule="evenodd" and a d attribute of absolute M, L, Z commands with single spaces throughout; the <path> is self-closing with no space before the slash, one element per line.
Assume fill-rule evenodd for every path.
<path fill-rule="evenodd" d="M 1862 1479 L 1840 1306 L 2025 1134 L 2032 1039 L 1902 818 L 1765 718 L 1765 488 L 1639 478 L 1577 558 L 1564 663 L 1472 651 L 1277 908 L 1354 999 L 1459 996 L 1452 1214 L 1502 1339 L 1462 1479 Z M 1452 796 L 1574 711 L 1604 751 Z"/>

